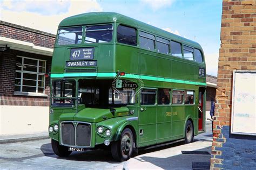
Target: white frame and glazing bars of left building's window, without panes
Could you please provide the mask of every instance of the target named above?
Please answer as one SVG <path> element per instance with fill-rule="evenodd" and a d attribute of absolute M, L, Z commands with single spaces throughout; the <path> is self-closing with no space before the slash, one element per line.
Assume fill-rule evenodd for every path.
<path fill-rule="evenodd" d="M 46 65 L 47 65 L 47 61 L 46 61 L 46 60 L 41 60 L 41 59 L 29 58 L 29 57 L 21 56 L 21 55 L 17 55 L 16 57 L 17 57 L 17 58 L 18 58 L 18 57 L 19 57 L 19 58 L 22 58 L 21 66 L 17 66 L 17 60 L 16 60 L 16 66 L 17 66 L 17 67 L 21 67 L 21 70 L 15 69 L 15 73 L 21 73 L 21 78 L 20 78 L 20 79 L 17 78 L 16 75 L 15 75 L 15 80 L 21 80 L 21 84 L 18 85 L 18 84 L 16 84 L 16 82 L 15 82 L 14 86 L 19 86 L 19 87 L 20 87 L 20 90 L 19 90 L 19 91 L 16 91 L 16 90 L 15 90 L 14 93 L 15 93 L 15 94 L 28 94 L 28 95 L 30 95 L 30 94 L 44 95 L 44 94 L 45 94 L 45 74 L 46 74 Z M 36 61 L 37 61 L 37 66 L 36 66 L 37 72 L 31 72 L 31 71 L 23 70 L 24 65 L 27 65 L 27 64 L 24 64 L 24 59 L 36 60 Z M 44 66 L 44 67 L 43 67 L 43 66 L 39 66 L 39 61 L 44 62 L 44 63 L 45 63 L 45 66 Z M 33 65 L 31 65 L 31 66 L 33 66 Z M 44 73 L 39 73 L 39 67 L 44 68 Z M 33 79 L 23 79 L 23 74 L 24 74 L 24 73 L 25 73 L 25 74 L 33 74 L 33 75 L 36 75 L 37 78 L 36 78 L 36 80 L 33 80 Z M 43 80 L 43 81 L 39 80 L 39 75 L 42 75 L 42 76 L 44 77 L 44 80 Z M 36 86 L 23 85 L 23 80 L 36 81 Z M 43 87 L 38 86 L 38 82 L 39 82 L 39 81 L 44 82 Z M 25 87 L 36 87 L 36 92 L 23 91 L 23 86 L 25 86 Z M 39 87 L 39 88 L 43 88 L 43 93 L 39 93 L 39 92 L 38 92 L 38 87 Z"/>

